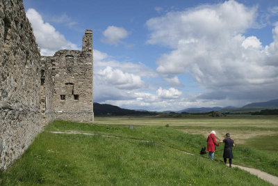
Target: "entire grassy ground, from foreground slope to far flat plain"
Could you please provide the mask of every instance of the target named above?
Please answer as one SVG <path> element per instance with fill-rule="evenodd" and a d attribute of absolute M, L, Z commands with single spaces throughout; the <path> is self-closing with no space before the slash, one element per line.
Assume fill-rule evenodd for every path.
<path fill-rule="evenodd" d="M 13 166 L 0 172 L 0 185 L 270 185 L 245 171 L 225 166 L 222 144 L 215 152 L 215 161 L 208 160 L 206 155 L 201 157 L 199 150 L 206 146 L 207 134 L 212 129 L 245 135 L 275 133 L 277 121 L 275 117 L 249 116 L 95 118 L 94 125 L 55 121 Z M 165 127 L 166 124 L 170 127 Z M 134 125 L 134 129 L 129 130 L 128 125 Z M 193 130 L 195 134 L 191 134 Z M 202 130 L 207 134 L 197 134 Z M 95 135 L 53 134 L 51 131 Z M 271 148 L 276 146 L 277 134 L 254 135 L 236 144 L 233 163 L 278 176 L 277 148 Z M 261 145 L 256 140 L 261 141 Z M 263 141 L 270 141 L 268 149 Z"/>

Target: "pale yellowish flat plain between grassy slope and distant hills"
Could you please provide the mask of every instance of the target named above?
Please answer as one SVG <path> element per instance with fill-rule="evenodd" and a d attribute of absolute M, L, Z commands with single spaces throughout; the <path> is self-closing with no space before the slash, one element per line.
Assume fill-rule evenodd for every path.
<path fill-rule="evenodd" d="M 220 118 L 202 115 L 188 118 L 159 118 L 156 116 L 96 117 L 95 123 L 105 125 L 169 125 L 183 132 L 202 134 L 204 137 L 207 137 L 211 130 L 215 130 L 216 139 L 222 140 L 226 133 L 230 133 L 236 144 L 246 144 L 249 139 L 256 141 L 258 137 L 265 137 L 263 140 L 258 138 L 260 141 L 265 141 L 265 144 L 261 143 L 263 146 L 274 142 L 273 140 L 268 141 L 268 137 L 278 136 L 278 116 L 228 115 Z"/>

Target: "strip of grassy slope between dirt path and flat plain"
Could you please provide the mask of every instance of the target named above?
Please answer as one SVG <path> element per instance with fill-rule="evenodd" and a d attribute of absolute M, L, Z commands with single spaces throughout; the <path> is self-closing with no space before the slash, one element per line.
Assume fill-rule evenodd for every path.
<path fill-rule="evenodd" d="M 129 130 L 129 127 L 119 127 L 115 125 L 76 125 L 75 123 L 63 122 L 65 125 L 54 123 L 50 125 L 48 130 L 52 131 L 66 131 L 75 130 L 81 132 L 93 132 L 95 134 L 112 134 L 126 139 L 145 139 L 149 141 L 156 141 L 157 143 L 180 150 L 185 150 L 190 153 L 198 154 L 199 150 L 206 146 L 206 138 L 202 135 L 192 135 L 188 133 L 179 132 L 169 127 L 163 126 L 140 126 L 135 127 L 136 130 Z M 248 125 L 248 124 L 247 124 Z M 222 127 L 222 125 L 218 125 Z M 245 130 L 245 127 L 243 127 Z M 257 129 L 258 130 L 258 129 Z M 261 128 L 259 128 L 261 130 Z M 210 131 L 210 129 L 208 130 Z M 222 152 L 224 145 L 221 144 L 215 153 L 215 160 L 222 161 Z M 234 148 L 234 164 L 254 167 L 262 171 L 278 176 L 278 155 L 277 153 L 270 153 L 246 146 L 237 145 Z"/>

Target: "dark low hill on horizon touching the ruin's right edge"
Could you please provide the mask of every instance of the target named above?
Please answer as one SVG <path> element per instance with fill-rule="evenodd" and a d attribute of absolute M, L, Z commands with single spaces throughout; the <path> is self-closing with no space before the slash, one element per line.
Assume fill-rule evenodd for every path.
<path fill-rule="evenodd" d="M 99 104 L 94 102 L 95 116 L 139 116 L 139 115 L 156 115 L 153 111 L 135 111 L 130 109 L 122 109 L 112 104 Z"/>

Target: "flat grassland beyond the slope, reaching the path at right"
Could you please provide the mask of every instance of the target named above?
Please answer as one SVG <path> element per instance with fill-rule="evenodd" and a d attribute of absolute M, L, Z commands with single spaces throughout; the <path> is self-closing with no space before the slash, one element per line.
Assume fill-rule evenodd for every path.
<path fill-rule="evenodd" d="M 108 125 L 169 125 L 189 134 L 208 137 L 215 130 L 218 141 L 229 132 L 236 143 L 234 163 L 278 176 L 278 116 L 228 115 L 211 118 L 116 117 L 96 118 L 95 123 Z M 204 142 L 206 139 L 204 139 Z M 204 144 L 206 145 L 206 144 Z M 222 160 L 223 145 L 216 149 L 215 159 Z"/>

